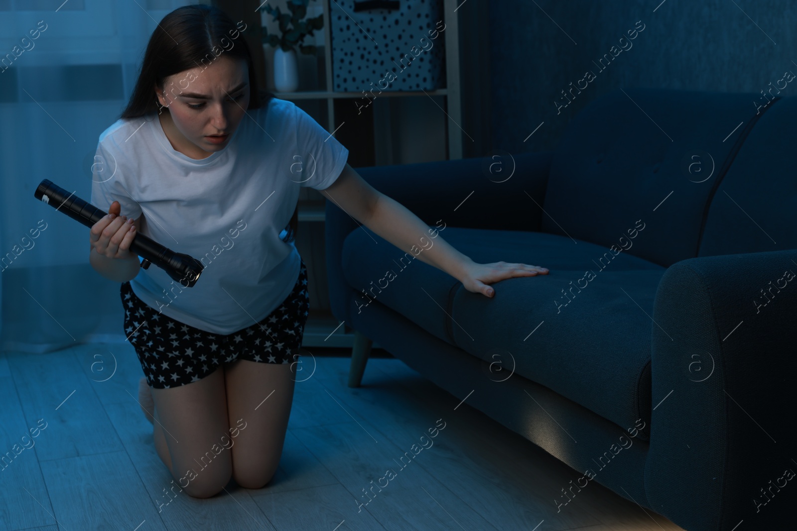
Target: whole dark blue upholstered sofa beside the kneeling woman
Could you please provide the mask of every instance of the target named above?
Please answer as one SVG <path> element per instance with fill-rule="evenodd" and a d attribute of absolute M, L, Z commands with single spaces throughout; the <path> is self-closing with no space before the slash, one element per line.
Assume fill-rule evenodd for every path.
<path fill-rule="evenodd" d="M 375 341 L 579 485 L 690 531 L 788 529 L 797 97 L 758 100 L 612 92 L 552 153 L 503 157 L 510 178 L 490 159 L 359 168 L 473 260 L 550 274 L 489 299 L 328 202 L 332 311 L 356 331 L 349 385 Z"/>

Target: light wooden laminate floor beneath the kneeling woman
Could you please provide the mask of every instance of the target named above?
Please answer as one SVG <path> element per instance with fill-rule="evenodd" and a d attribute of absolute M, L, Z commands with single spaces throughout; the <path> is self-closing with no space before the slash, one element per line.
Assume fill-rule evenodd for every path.
<path fill-rule="evenodd" d="M 355 389 L 348 363 L 304 357 L 304 377 L 315 372 L 296 384 L 268 486 L 231 481 L 195 499 L 171 489 L 155 452 L 128 343 L 0 353 L 0 457 L 13 457 L 0 464 L 0 530 L 681 529 L 595 482 L 557 513 L 575 470 L 467 403 L 454 410 L 460 400 L 402 361 L 371 359 Z M 434 444 L 399 463 L 441 419 Z M 371 490 L 387 469 L 387 486 Z"/>

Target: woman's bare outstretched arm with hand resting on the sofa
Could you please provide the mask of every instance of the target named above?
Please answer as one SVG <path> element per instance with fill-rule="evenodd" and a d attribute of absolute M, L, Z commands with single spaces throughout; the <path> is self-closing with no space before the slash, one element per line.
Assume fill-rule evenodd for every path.
<path fill-rule="evenodd" d="M 404 252 L 459 280 L 468 291 L 492 297 L 489 284 L 515 276 L 546 275 L 529 264 L 477 264 L 442 239 L 409 209 L 374 189 L 348 164 L 336 182 L 320 193 L 373 232 Z"/>

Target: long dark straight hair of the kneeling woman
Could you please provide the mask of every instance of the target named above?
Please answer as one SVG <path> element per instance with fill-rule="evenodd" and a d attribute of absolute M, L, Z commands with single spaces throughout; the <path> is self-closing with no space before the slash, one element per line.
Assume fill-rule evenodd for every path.
<path fill-rule="evenodd" d="M 214 54 L 214 48 L 222 50 L 227 57 L 245 59 L 251 95 L 247 110 L 267 106 L 274 95 L 258 87 L 252 54 L 241 33 L 241 28 L 215 6 L 183 6 L 167 14 L 152 32 L 139 78 L 120 119 L 141 118 L 159 109 L 168 111 L 167 107 L 161 107 L 153 87 L 157 86 L 159 91 L 163 91 L 168 76 L 214 61 L 220 57 Z M 233 45 L 230 46 L 230 43 Z M 296 205 L 291 221 L 285 227 L 288 231 L 283 238 L 285 243 L 295 240 L 298 221 L 299 207 Z"/>

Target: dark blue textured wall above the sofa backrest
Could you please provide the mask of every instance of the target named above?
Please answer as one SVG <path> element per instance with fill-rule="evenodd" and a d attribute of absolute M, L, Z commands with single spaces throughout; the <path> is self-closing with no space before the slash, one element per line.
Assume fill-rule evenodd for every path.
<path fill-rule="evenodd" d="M 489 2 L 493 149 L 552 149 L 587 103 L 618 88 L 751 92 L 765 103 L 760 91 L 775 86 L 784 72 L 797 73 L 797 2 L 660 2 Z M 642 32 L 621 43 L 638 21 Z M 618 53 L 621 45 L 627 50 Z M 592 61 L 606 53 L 612 61 L 604 60 L 601 70 Z M 575 97 L 568 92 L 571 103 L 557 114 L 555 102 L 567 103 L 561 91 L 579 84 L 588 70 L 595 79 L 580 94 L 574 89 Z M 791 95 L 797 95 L 797 79 L 779 94 Z"/>

